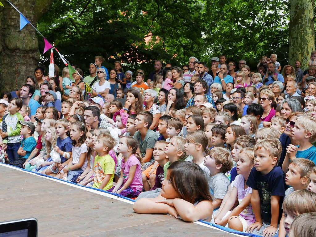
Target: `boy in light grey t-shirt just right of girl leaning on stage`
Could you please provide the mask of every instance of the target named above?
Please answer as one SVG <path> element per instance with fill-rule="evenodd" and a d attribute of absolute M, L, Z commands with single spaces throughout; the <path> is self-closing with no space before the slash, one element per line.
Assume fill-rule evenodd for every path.
<path fill-rule="evenodd" d="M 233 159 L 227 149 L 214 147 L 205 157 L 204 165 L 210 170 L 210 192 L 214 195 L 213 208 L 218 208 L 227 193 L 229 179 L 225 173 L 233 167 Z"/>

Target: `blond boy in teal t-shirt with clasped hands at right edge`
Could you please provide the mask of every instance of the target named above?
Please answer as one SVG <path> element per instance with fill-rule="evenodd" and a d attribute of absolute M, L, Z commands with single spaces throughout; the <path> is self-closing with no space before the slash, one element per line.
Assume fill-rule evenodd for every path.
<path fill-rule="evenodd" d="M 292 128 L 292 140 L 298 141 L 300 146 L 290 144 L 287 148 L 282 170 L 287 172 L 289 164 L 295 158 L 309 159 L 316 164 L 316 147 L 312 142 L 316 140 L 316 119 L 310 116 L 300 116 Z"/>

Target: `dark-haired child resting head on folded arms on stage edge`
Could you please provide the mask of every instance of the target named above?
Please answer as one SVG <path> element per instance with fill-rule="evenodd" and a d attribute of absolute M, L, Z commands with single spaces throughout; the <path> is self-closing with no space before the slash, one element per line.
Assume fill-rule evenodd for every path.
<path fill-rule="evenodd" d="M 161 194 L 134 203 L 136 213 L 168 213 L 184 221 L 210 221 L 213 205 L 203 170 L 190 161 L 178 160 L 168 167 Z"/>

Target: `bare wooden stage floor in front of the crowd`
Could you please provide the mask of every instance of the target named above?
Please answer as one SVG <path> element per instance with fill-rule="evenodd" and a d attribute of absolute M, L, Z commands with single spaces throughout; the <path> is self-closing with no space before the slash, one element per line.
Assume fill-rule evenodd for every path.
<path fill-rule="evenodd" d="M 0 222 L 35 217 L 38 236 L 234 236 L 168 215 L 136 214 L 129 201 L 88 190 L 0 165 Z"/>

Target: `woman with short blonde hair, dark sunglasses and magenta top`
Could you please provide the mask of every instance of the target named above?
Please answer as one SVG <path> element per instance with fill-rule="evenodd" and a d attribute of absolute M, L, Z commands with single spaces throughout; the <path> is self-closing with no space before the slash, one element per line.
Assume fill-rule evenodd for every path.
<path fill-rule="evenodd" d="M 258 103 L 261 104 L 263 108 L 263 115 L 261 121 L 264 127 L 269 127 L 271 123 L 271 118 L 276 115 L 276 111 L 272 108 L 271 104 L 275 97 L 271 90 L 261 90 L 260 96 L 258 98 Z"/>

